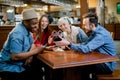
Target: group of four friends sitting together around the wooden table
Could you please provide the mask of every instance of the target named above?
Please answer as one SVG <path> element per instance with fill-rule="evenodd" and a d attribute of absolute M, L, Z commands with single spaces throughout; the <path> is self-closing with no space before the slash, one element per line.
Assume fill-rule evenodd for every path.
<path fill-rule="evenodd" d="M 63 37 L 54 41 L 49 29 L 48 15 L 38 15 L 34 9 L 22 12 L 22 21 L 9 33 L 0 52 L 0 77 L 2 80 L 42 80 L 44 70 L 38 70 L 43 63 L 36 55 L 43 52 L 47 46 L 65 46 L 83 54 L 92 51 L 116 56 L 114 41 L 109 31 L 98 24 L 95 13 L 83 15 L 82 28 L 72 25 L 69 17 L 58 20 L 58 28 Z M 89 33 L 89 35 L 87 35 Z M 38 65 L 39 63 L 39 65 Z M 83 80 L 90 80 L 89 74 L 110 74 L 115 69 L 116 62 L 107 62 L 79 67 Z M 43 66 L 44 67 L 44 66 Z M 42 67 L 41 67 L 42 68 Z M 37 74 L 37 72 L 41 74 Z M 96 77 L 92 80 L 97 80 Z"/>

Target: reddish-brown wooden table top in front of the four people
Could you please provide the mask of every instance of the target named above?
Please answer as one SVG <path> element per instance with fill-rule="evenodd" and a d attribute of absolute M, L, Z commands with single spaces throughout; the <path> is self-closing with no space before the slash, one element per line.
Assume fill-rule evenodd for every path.
<path fill-rule="evenodd" d="M 119 61 L 117 56 L 105 55 L 98 52 L 83 54 L 72 50 L 63 52 L 44 51 L 37 57 L 53 69 Z"/>

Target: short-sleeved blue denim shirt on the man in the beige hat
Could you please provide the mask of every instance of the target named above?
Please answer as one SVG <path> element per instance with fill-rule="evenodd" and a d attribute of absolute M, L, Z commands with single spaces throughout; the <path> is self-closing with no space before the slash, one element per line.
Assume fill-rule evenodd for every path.
<path fill-rule="evenodd" d="M 22 72 L 24 71 L 24 60 L 13 61 L 11 54 L 27 52 L 30 49 L 33 39 L 22 23 L 18 24 L 8 35 L 8 38 L 0 52 L 0 72 Z"/>

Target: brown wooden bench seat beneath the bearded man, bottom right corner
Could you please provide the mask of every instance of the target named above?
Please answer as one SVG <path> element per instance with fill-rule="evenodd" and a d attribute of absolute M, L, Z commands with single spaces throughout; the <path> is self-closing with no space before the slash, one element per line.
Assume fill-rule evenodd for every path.
<path fill-rule="evenodd" d="M 120 70 L 115 70 L 112 74 L 97 75 L 98 80 L 120 80 Z"/>

